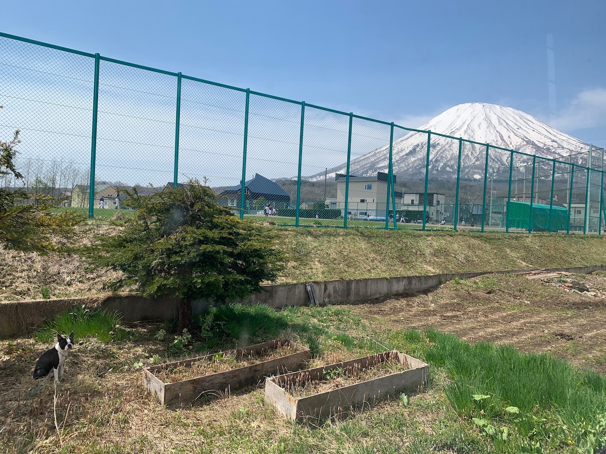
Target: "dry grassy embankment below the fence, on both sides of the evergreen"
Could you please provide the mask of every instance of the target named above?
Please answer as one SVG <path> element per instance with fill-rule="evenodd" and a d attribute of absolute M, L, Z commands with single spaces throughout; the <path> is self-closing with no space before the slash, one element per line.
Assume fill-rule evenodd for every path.
<path fill-rule="evenodd" d="M 82 242 L 116 228 L 99 219 L 85 227 Z M 267 228 L 276 230 L 276 247 L 287 257 L 276 283 L 606 264 L 606 236 Z M 98 294 L 116 290 L 119 277 L 73 254 L 40 257 L 0 248 L 0 258 L 0 300 Z"/>

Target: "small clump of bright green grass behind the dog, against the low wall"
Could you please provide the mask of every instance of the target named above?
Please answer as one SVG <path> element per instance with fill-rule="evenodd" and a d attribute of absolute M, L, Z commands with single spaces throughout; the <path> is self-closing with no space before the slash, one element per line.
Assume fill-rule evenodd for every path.
<path fill-rule="evenodd" d="M 40 342 L 50 343 L 57 334 L 69 334 L 73 331 L 76 341 L 82 338 L 96 337 L 102 342 L 112 338 L 112 331 L 121 319 L 116 312 L 105 309 L 89 309 L 86 306 L 74 306 L 69 311 L 60 312 L 52 320 L 45 321 L 36 332 Z"/>

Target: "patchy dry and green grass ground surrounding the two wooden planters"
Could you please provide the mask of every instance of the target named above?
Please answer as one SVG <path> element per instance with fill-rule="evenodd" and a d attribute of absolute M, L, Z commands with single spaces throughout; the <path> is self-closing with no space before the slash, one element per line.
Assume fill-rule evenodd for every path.
<path fill-rule="evenodd" d="M 550 355 L 469 344 L 433 329 L 378 332 L 351 309 L 221 306 L 195 341 L 162 326 L 102 342 L 83 334 L 54 390 L 28 400 L 31 378 L 6 371 L 0 444 L 9 452 L 573 453 L 606 444 L 606 380 Z M 208 323 L 210 320 L 210 323 Z M 125 329 L 128 327 L 125 327 Z M 75 330 L 79 330 L 76 322 Z M 110 333 L 108 333 L 110 334 Z M 165 336 L 163 340 L 158 334 Z M 116 337 L 117 332 L 110 334 Z M 430 364 L 419 390 L 342 418 L 295 424 L 264 405 L 262 386 L 175 411 L 145 393 L 139 367 L 288 335 L 313 351 L 311 366 L 397 349 Z M 173 339 L 174 337 L 174 339 Z M 36 346 L 38 349 L 38 346 Z M 35 357 L 30 340 L 3 345 Z M 27 362 L 27 361 L 25 361 Z M 58 421 L 55 424 L 54 421 Z"/>

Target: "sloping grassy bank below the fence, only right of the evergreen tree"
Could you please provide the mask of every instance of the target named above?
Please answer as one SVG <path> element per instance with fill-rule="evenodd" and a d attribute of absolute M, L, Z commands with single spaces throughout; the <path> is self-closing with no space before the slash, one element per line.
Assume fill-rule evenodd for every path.
<path fill-rule="evenodd" d="M 279 282 L 606 263 L 606 237 L 554 234 L 279 229 Z"/>

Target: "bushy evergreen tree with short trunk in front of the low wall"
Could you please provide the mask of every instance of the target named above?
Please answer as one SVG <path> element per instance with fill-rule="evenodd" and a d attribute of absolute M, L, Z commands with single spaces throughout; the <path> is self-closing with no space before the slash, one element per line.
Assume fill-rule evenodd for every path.
<path fill-rule="evenodd" d="M 135 215 L 99 238 L 91 257 L 124 272 L 143 295 L 176 297 L 179 331 L 191 326 L 193 300 L 247 297 L 281 269 L 271 231 L 233 217 L 198 181 L 127 196 Z"/>

